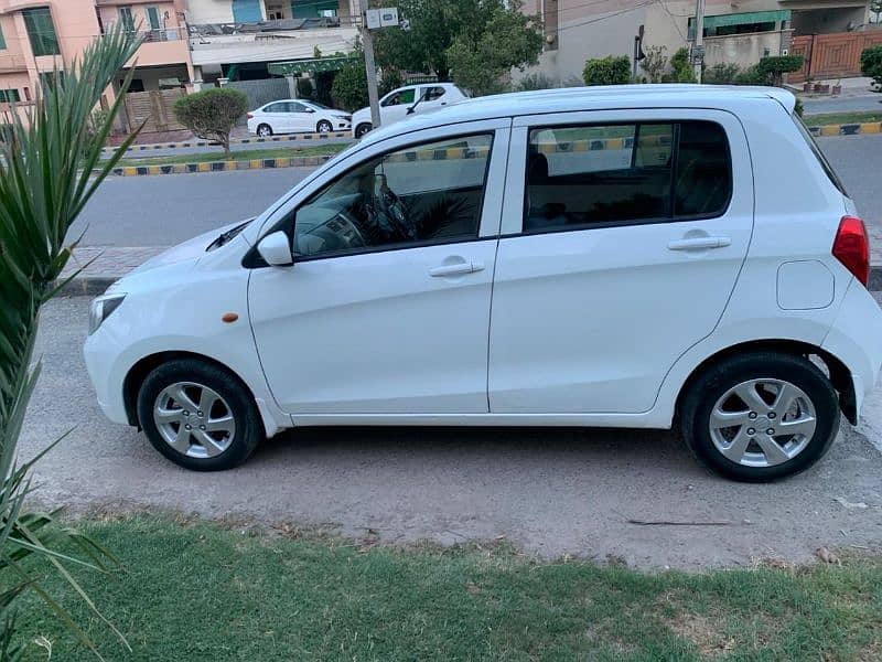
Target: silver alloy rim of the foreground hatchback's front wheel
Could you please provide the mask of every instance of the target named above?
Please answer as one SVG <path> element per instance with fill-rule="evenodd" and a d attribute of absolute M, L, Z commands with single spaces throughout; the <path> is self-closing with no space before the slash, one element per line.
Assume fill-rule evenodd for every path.
<path fill-rule="evenodd" d="M 153 421 L 169 446 L 191 458 L 220 455 L 236 435 L 236 420 L 226 401 L 194 382 L 163 388 L 153 405 Z"/>

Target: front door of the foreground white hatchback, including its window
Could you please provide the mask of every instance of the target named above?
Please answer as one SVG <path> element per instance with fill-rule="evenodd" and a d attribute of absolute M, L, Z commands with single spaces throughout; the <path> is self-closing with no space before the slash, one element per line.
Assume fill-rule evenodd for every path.
<path fill-rule="evenodd" d="M 452 139 L 392 138 L 268 222 L 263 234 L 290 233 L 295 264 L 256 268 L 249 309 L 283 410 L 487 412 L 507 138 L 501 121 Z"/>

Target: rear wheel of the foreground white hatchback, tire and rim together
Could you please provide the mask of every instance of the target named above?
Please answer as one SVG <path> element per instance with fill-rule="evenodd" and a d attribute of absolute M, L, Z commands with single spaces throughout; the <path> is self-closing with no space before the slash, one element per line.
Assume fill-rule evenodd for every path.
<path fill-rule="evenodd" d="M 727 359 L 691 384 L 681 431 L 708 467 L 763 482 L 804 471 L 839 431 L 839 401 L 818 366 L 794 354 Z"/>

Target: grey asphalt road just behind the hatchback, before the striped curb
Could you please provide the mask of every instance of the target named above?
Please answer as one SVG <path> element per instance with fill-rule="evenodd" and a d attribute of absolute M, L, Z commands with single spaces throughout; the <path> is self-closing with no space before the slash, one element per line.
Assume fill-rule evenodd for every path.
<path fill-rule="evenodd" d="M 819 145 L 882 239 L 882 136 L 821 138 Z M 71 231 L 89 246 L 171 246 L 208 229 L 254 216 L 309 173 L 286 168 L 110 178 Z M 880 244 L 882 245 L 882 244 Z"/>

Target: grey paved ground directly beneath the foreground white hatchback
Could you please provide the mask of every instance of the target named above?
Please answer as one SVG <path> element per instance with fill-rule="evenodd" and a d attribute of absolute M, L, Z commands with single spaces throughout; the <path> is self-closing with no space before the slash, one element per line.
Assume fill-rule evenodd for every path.
<path fill-rule="evenodd" d="M 673 434 L 646 430 L 303 429 L 269 441 L 235 471 L 187 472 L 98 410 L 80 355 L 87 305 L 55 300 L 41 320 L 44 367 L 22 459 L 73 427 L 35 471 L 35 499 L 45 506 L 164 509 L 346 535 L 369 527 L 386 543 L 506 536 L 546 557 L 613 555 L 638 567 L 802 562 L 821 545 L 882 549 L 882 458 L 850 428 L 811 471 L 766 485 L 713 477 Z M 882 398 L 872 405 L 861 429 L 879 442 Z"/>

